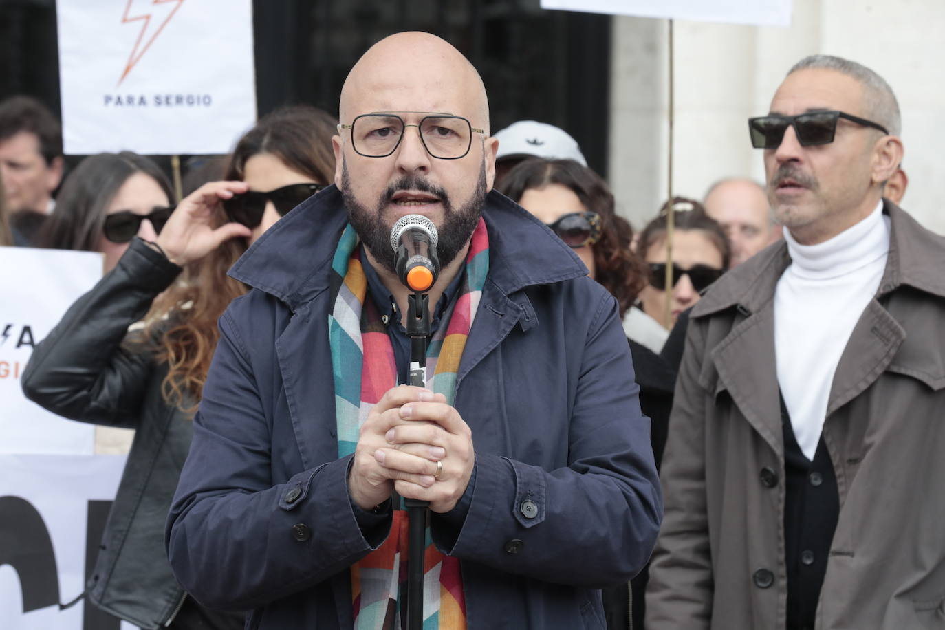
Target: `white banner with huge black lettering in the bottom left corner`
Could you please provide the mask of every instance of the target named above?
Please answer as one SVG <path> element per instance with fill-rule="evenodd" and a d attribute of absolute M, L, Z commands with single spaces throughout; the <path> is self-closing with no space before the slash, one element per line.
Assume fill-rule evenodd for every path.
<path fill-rule="evenodd" d="M 125 457 L 0 454 L 0 628 L 92 630 L 80 602 Z M 86 620 L 88 621 L 88 620 Z M 97 614 L 97 628 L 133 625 Z"/>

